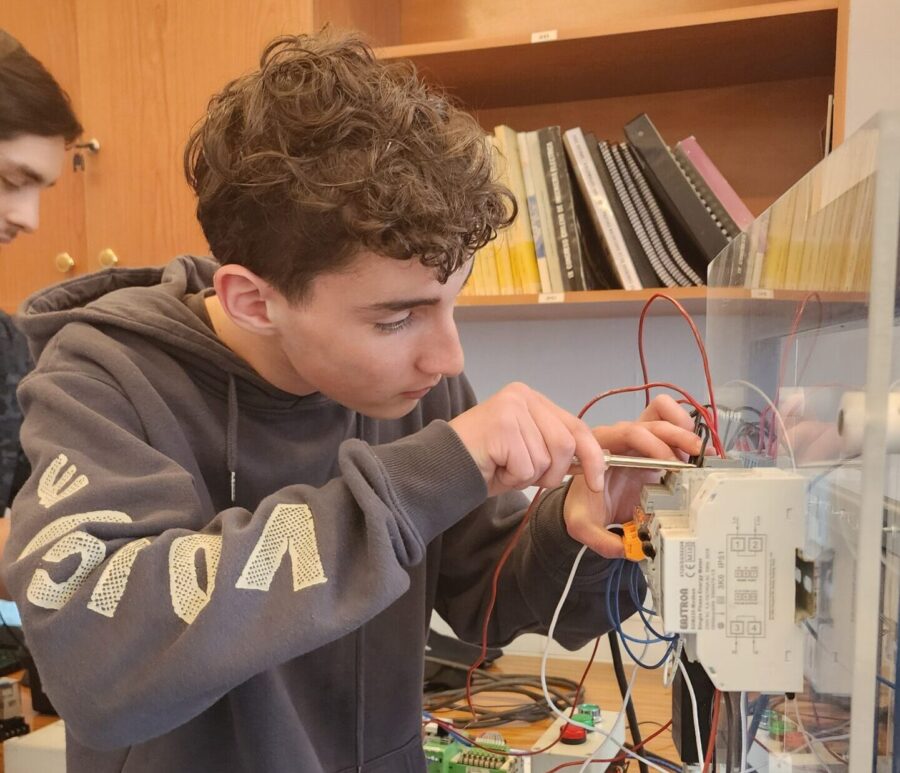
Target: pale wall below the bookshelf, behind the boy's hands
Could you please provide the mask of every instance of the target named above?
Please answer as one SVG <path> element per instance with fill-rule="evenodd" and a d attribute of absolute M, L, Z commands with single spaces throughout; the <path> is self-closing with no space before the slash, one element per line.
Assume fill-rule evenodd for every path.
<path fill-rule="evenodd" d="M 701 333 L 705 319 L 695 319 Z M 577 413 L 606 389 L 642 382 L 637 353 L 637 317 L 516 322 L 461 322 L 466 373 L 480 399 L 510 381 L 523 381 L 557 404 Z M 645 326 L 644 346 L 651 380 L 670 381 L 706 402 L 699 354 L 690 329 L 681 317 L 651 317 Z M 643 395 L 623 395 L 601 401 L 585 417 L 590 424 L 636 418 Z M 627 630 L 640 627 L 629 621 Z M 439 620 L 434 626 L 449 633 Z M 506 652 L 540 654 L 545 637 L 527 635 Z M 656 650 L 648 652 L 652 657 Z M 661 652 L 661 651 L 660 651 Z M 552 643 L 551 654 L 586 658 L 590 648 L 569 653 Z M 657 657 L 659 657 L 657 655 Z M 609 660 L 604 642 L 598 659 Z"/>

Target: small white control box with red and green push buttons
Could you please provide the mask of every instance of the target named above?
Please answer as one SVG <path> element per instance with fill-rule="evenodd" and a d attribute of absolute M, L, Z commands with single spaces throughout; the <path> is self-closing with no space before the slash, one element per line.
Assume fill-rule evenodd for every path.
<path fill-rule="evenodd" d="M 596 729 L 586 730 L 562 718 L 557 719 L 531 747 L 532 751 L 537 751 L 553 744 L 545 752 L 531 758 L 532 773 L 547 773 L 564 762 L 586 760 L 588 757 L 610 760 L 621 754 L 622 744 L 625 743 L 624 712 L 600 711 L 596 706 L 584 704 L 578 707 L 573 719 L 575 717 L 579 723 L 593 725 Z M 592 762 L 584 770 L 586 773 L 603 773 L 608 767 L 608 762 Z"/>

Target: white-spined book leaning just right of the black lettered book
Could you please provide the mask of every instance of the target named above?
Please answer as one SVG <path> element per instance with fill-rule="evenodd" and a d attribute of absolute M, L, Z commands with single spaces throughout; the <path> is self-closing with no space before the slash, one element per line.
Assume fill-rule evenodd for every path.
<path fill-rule="evenodd" d="M 569 129 L 565 133 L 564 142 L 581 193 L 580 198 L 584 200 L 588 210 L 589 217 L 584 221 L 584 230 L 590 226 L 598 241 L 603 243 L 604 254 L 609 259 L 608 265 L 616 277 L 617 284 L 625 290 L 640 290 L 642 286 L 640 277 L 622 229 L 613 214 L 612 202 L 600 180 L 584 133 L 577 127 Z M 597 257 L 602 256 L 598 254 Z"/>

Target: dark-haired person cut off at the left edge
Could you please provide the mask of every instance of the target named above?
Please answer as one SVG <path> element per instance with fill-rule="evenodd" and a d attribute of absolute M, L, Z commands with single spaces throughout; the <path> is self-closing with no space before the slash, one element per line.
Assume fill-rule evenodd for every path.
<path fill-rule="evenodd" d="M 41 192 L 59 177 L 66 146 L 80 134 L 53 76 L 0 29 L 0 260 L 4 244 L 38 227 Z M 0 310 L 0 516 L 28 475 L 16 387 L 30 367 L 25 337 Z M 0 552 L 8 534 L 9 518 L 0 517 Z M 2 577 L 0 598 L 8 598 Z"/>

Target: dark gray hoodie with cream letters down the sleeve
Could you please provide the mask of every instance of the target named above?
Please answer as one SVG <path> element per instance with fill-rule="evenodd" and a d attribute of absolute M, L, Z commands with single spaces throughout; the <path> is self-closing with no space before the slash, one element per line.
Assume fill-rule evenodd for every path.
<path fill-rule="evenodd" d="M 390 421 L 282 392 L 185 303 L 214 270 L 80 277 L 19 318 L 34 472 L 4 570 L 68 770 L 423 771 L 432 609 L 480 641 L 525 500 L 488 498 L 446 423 L 474 403 L 464 377 Z M 493 645 L 546 630 L 580 547 L 562 497 L 503 570 Z M 609 628 L 608 568 L 585 562 L 565 646 Z"/>

